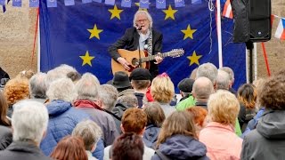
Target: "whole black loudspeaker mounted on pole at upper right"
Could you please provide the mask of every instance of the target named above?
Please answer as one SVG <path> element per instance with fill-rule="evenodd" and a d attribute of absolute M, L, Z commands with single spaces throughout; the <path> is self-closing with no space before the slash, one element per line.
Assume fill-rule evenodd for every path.
<path fill-rule="evenodd" d="M 231 0 L 233 42 L 265 42 L 271 39 L 271 0 Z"/>

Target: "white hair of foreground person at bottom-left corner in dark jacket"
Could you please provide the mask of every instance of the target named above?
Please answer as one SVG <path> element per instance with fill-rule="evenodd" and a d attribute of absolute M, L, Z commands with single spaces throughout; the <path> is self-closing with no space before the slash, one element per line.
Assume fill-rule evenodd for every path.
<path fill-rule="evenodd" d="M 45 105 L 35 100 L 21 100 L 13 109 L 12 140 L 34 140 L 39 144 L 48 123 Z"/>

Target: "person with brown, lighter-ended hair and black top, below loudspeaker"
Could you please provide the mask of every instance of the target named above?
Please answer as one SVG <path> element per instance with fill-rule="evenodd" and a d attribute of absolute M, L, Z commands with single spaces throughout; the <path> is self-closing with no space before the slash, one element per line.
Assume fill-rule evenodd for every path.
<path fill-rule="evenodd" d="M 238 100 L 240 101 L 240 109 L 244 110 L 240 126 L 241 132 L 244 132 L 248 122 L 256 116 L 256 86 L 253 84 L 242 84 L 238 90 Z M 240 116 L 240 115 L 239 115 Z"/>

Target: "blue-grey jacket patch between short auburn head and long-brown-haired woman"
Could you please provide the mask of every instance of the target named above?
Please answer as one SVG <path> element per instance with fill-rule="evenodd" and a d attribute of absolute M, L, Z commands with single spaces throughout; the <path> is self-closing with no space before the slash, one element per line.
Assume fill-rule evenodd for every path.
<path fill-rule="evenodd" d="M 156 141 L 158 140 L 160 128 L 150 124 L 147 125 L 143 132 L 143 143 L 148 148 L 155 148 Z"/>

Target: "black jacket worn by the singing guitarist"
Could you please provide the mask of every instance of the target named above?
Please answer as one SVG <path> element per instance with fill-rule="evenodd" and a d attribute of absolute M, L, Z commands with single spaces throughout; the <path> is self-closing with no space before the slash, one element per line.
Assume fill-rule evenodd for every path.
<path fill-rule="evenodd" d="M 126 49 L 128 51 L 135 51 L 138 49 L 140 35 L 135 28 L 127 28 L 125 35 L 118 39 L 114 44 L 108 48 L 108 52 L 112 59 L 117 60 L 119 56 L 118 49 Z M 161 52 L 162 49 L 162 34 L 159 31 L 152 29 L 152 54 Z M 151 76 L 159 74 L 158 65 L 154 64 L 155 60 L 151 60 Z"/>

